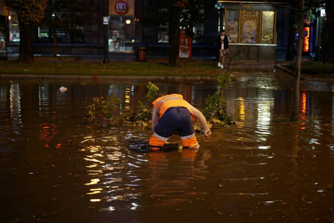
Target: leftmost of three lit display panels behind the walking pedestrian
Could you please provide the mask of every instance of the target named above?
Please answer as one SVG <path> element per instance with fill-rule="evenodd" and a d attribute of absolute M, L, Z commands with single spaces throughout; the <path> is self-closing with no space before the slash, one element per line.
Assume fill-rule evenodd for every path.
<path fill-rule="evenodd" d="M 227 11 L 226 35 L 230 43 L 238 43 L 239 11 Z"/>

